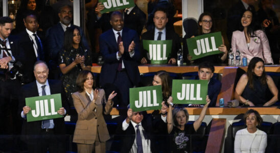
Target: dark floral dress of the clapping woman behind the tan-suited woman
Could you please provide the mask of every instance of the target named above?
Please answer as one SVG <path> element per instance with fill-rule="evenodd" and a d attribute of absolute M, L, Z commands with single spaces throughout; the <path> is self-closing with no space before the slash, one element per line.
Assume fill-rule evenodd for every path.
<path fill-rule="evenodd" d="M 73 61 L 75 61 L 75 58 L 77 55 L 84 56 L 85 57 L 85 65 L 91 65 L 91 59 L 88 53 L 87 49 L 82 49 L 82 47 L 79 47 L 78 49 L 75 49 L 72 47 L 71 50 L 62 50 L 59 53 L 59 59 L 58 59 L 58 65 L 59 64 L 66 64 L 66 66 L 70 65 Z M 72 99 L 72 93 L 76 92 L 76 79 L 78 77 L 78 74 L 82 71 L 82 67 L 80 64 L 77 64 L 73 69 L 71 69 L 66 74 L 63 74 L 61 77 L 61 82 L 63 85 L 63 89 L 66 94 L 67 103 L 69 106 L 73 105 L 73 99 Z"/>

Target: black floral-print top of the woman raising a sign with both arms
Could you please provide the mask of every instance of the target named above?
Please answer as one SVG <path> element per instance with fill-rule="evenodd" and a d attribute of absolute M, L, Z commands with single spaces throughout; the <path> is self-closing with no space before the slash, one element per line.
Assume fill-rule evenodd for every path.
<path fill-rule="evenodd" d="M 195 134 L 193 124 L 185 125 L 184 130 L 178 129 L 173 126 L 173 130 L 170 133 L 173 135 L 171 140 L 171 152 L 191 152 L 191 137 L 190 135 Z"/>

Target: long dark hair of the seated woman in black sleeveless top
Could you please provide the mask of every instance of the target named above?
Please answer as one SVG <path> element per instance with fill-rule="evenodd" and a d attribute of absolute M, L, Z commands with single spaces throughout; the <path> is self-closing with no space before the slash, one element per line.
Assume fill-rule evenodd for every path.
<path fill-rule="evenodd" d="M 255 75 L 255 73 L 253 72 L 256 63 L 258 62 L 263 62 L 263 64 L 265 63 L 263 61 L 263 59 L 259 58 L 259 57 L 253 57 L 248 65 L 248 70 L 247 70 L 247 76 L 248 76 L 248 82 L 249 82 L 249 88 L 251 88 L 252 90 L 254 89 L 254 84 L 253 84 L 253 77 Z M 267 84 L 266 82 L 266 74 L 265 74 L 265 68 L 264 71 L 261 75 L 261 77 L 259 78 L 261 83 L 263 85 Z"/>

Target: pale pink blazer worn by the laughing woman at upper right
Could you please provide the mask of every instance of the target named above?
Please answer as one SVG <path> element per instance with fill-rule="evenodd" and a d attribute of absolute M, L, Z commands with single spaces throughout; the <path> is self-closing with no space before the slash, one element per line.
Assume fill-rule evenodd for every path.
<path fill-rule="evenodd" d="M 250 38 L 248 48 L 244 31 L 235 31 L 232 34 L 231 39 L 232 52 L 236 53 L 236 50 L 238 49 L 241 53 L 241 60 L 243 57 L 246 57 L 247 63 L 249 63 L 253 57 L 259 57 L 263 59 L 265 63 L 273 64 L 266 34 L 261 30 L 257 30 L 255 31 L 255 35 L 255 37 Z"/>

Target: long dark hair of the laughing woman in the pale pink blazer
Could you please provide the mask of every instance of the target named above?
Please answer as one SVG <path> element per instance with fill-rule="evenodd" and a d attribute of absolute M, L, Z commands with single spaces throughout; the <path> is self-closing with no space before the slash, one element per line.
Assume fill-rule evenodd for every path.
<path fill-rule="evenodd" d="M 258 22 L 258 19 L 254 12 L 252 12 L 251 10 L 246 10 L 246 11 L 249 11 L 252 13 L 252 21 L 247 27 L 247 34 L 250 37 L 256 37 L 255 31 L 262 30 L 261 24 Z M 246 11 L 242 12 L 241 18 Z M 242 23 L 241 23 L 241 18 L 240 18 L 240 22 L 239 22 L 239 31 L 244 30 L 244 27 L 242 26 Z"/>

